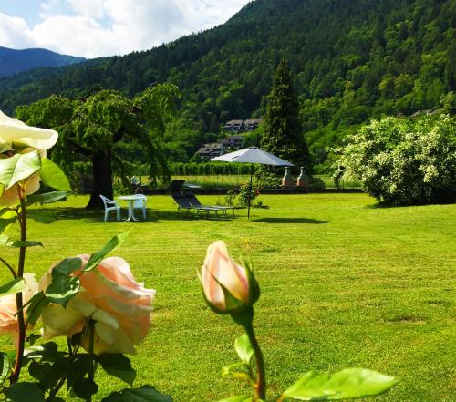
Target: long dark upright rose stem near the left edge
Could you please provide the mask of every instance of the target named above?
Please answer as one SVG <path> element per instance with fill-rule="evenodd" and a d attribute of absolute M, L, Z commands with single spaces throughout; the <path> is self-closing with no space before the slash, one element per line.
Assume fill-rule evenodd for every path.
<path fill-rule="evenodd" d="M 19 214 L 19 223 L 21 227 L 21 242 L 26 242 L 26 198 L 23 194 L 23 189 L 19 186 L 19 199 L 21 201 L 21 213 Z M 19 262 L 17 263 L 17 277 L 24 277 L 24 266 L 26 264 L 26 247 L 19 249 Z M 16 294 L 16 307 L 17 307 L 17 329 L 18 329 L 18 342 L 17 342 L 17 355 L 16 364 L 11 374 L 11 383 L 16 383 L 19 379 L 22 368 L 22 359 L 24 356 L 24 345 L 26 343 L 26 322 L 24 319 L 24 302 L 22 293 Z"/>

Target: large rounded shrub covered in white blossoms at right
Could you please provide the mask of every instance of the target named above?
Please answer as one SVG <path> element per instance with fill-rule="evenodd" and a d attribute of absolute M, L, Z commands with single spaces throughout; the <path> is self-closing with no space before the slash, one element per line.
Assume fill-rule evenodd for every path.
<path fill-rule="evenodd" d="M 372 120 L 339 149 L 338 169 L 391 205 L 456 200 L 456 129 L 449 116 Z"/>

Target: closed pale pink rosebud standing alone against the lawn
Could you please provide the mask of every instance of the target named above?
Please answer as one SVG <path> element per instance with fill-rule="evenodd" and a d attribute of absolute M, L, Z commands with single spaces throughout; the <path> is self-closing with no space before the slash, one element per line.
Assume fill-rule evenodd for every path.
<path fill-rule="evenodd" d="M 252 305 L 259 296 L 253 273 L 234 262 L 221 240 L 213 242 L 207 249 L 201 282 L 207 303 L 222 314 Z"/>

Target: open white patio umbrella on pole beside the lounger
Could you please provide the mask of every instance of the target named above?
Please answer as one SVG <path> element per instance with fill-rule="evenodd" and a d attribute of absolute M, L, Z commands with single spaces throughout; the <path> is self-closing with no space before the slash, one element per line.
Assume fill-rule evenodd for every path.
<path fill-rule="evenodd" d="M 236 150 L 234 152 L 226 153 L 219 157 L 212 158 L 212 162 L 237 162 L 237 163 L 251 163 L 250 168 L 250 191 L 248 193 L 248 212 L 247 218 L 250 219 L 250 194 L 252 192 L 252 175 L 254 163 L 260 163 L 262 165 L 271 166 L 295 166 L 293 163 L 287 160 L 280 159 L 272 153 L 266 152 L 265 150 L 258 149 L 256 147 L 250 147 L 245 149 Z"/>

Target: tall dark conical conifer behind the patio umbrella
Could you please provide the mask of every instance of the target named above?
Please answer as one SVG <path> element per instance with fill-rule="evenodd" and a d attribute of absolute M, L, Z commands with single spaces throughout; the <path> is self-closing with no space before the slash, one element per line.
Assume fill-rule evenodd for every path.
<path fill-rule="evenodd" d="M 285 59 L 277 67 L 273 88 L 267 98 L 261 146 L 296 167 L 311 170 L 309 150 L 299 121 L 299 102 Z"/>

